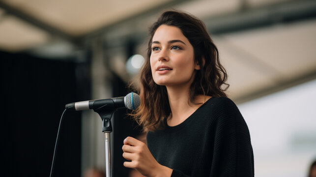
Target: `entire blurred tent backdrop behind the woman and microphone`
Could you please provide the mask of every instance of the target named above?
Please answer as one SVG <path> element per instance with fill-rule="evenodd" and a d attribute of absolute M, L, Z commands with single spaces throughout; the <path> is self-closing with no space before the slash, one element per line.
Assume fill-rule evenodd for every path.
<path fill-rule="evenodd" d="M 49 176 L 64 105 L 133 91 L 147 29 L 170 8 L 203 20 L 217 45 L 256 177 L 307 177 L 316 159 L 315 0 L 0 0 L 2 174 Z M 112 118 L 114 177 L 134 174 L 123 167 L 123 140 L 144 138 L 126 113 Z M 104 171 L 96 113 L 67 112 L 60 133 L 55 176 Z"/>

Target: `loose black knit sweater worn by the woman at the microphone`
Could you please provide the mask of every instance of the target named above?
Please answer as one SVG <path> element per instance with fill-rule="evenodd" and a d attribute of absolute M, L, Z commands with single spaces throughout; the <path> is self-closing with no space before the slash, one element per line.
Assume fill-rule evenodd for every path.
<path fill-rule="evenodd" d="M 254 177 L 247 124 L 227 97 L 212 97 L 176 126 L 148 132 L 147 145 L 172 177 Z"/>

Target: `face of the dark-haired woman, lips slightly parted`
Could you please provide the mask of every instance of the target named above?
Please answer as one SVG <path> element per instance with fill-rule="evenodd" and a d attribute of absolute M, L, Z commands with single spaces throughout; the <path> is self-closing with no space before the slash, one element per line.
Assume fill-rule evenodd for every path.
<path fill-rule="evenodd" d="M 158 85 L 181 86 L 191 84 L 195 70 L 194 50 L 182 31 L 174 26 L 161 25 L 153 35 L 150 67 Z"/>

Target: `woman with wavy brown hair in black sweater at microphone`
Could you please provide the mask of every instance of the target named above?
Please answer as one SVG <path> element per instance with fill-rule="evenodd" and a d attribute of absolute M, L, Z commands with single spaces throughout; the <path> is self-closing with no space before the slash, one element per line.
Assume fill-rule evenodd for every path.
<path fill-rule="evenodd" d="M 248 127 L 223 88 L 227 74 L 203 22 L 164 12 L 150 28 L 134 114 L 147 146 L 124 140 L 124 166 L 146 177 L 252 177 Z"/>

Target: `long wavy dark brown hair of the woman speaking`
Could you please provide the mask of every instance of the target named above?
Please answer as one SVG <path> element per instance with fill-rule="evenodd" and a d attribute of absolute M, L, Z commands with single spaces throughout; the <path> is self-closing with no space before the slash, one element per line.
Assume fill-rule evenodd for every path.
<path fill-rule="evenodd" d="M 194 103 L 199 94 L 213 97 L 226 96 L 225 90 L 227 73 L 220 64 L 218 50 L 210 38 L 204 23 L 193 15 L 179 12 L 164 12 L 150 28 L 146 61 L 140 72 L 141 105 L 131 115 L 143 126 L 144 131 L 155 131 L 164 126 L 164 121 L 171 115 L 167 89 L 157 85 L 152 78 L 150 68 L 151 42 L 153 35 L 161 25 L 179 28 L 189 40 L 194 49 L 195 62 L 200 63 L 201 69 L 196 71 L 190 87 L 190 101 Z M 223 88 L 222 85 L 227 87 Z"/>

